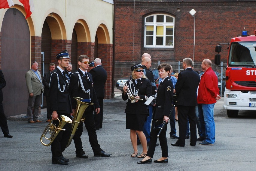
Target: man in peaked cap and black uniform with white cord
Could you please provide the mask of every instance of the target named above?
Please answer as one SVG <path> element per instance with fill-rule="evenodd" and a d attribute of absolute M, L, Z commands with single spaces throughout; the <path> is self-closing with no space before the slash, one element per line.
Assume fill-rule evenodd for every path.
<path fill-rule="evenodd" d="M 60 115 L 65 115 L 71 118 L 72 106 L 65 73 L 65 69 L 69 64 L 69 53 L 67 50 L 60 52 L 57 54 L 56 58 L 58 66 L 52 71 L 50 76 L 49 97 L 53 123 L 58 126 L 59 121 L 57 118 L 62 121 Z M 63 129 L 66 129 L 66 131 L 60 131 L 51 144 L 53 164 L 69 164 L 69 159 L 64 158 L 62 152 L 66 149 L 66 145 L 71 135 L 71 124 L 67 123 Z"/>

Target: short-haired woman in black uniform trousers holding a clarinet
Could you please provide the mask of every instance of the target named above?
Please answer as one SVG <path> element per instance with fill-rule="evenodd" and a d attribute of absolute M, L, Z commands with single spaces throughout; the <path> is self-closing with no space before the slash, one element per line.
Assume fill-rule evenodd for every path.
<path fill-rule="evenodd" d="M 146 164 L 152 162 L 151 158 L 153 158 L 154 156 L 157 137 L 160 131 L 160 129 L 154 129 L 154 127 L 158 126 L 157 128 L 161 128 L 164 121 L 166 122 L 166 125 L 163 127 L 162 132 L 159 134 L 159 142 L 162 149 L 162 157 L 159 158 L 158 160 L 155 160 L 154 162 L 168 163 L 168 146 L 166 140 L 166 130 L 170 111 L 172 108 L 173 84 L 168 76 L 171 70 L 171 66 L 166 63 L 160 64 L 157 67 L 157 70 L 160 78 L 162 78 L 162 81 L 159 83 L 157 88 L 157 99 L 155 110 L 153 112 L 153 121 L 150 131 L 148 154 L 144 159 L 142 159 L 142 161 L 137 162 L 138 164 Z"/>

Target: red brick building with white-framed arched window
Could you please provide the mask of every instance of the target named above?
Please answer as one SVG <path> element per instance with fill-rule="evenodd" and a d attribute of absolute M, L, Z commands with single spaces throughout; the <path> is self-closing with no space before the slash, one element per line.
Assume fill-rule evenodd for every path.
<path fill-rule="evenodd" d="M 254 34 L 255 9 L 255 0 L 116 0 L 115 61 L 140 61 L 143 53 L 152 61 L 214 61 L 216 45 L 244 27 Z M 227 51 L 221 55 L 225 61 Z"/>

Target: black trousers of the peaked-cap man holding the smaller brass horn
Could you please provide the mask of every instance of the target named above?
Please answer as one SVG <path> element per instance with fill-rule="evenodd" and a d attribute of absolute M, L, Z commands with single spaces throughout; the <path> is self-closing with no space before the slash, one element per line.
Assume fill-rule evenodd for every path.
<path fill-rule="evenodd" d="M 62 121 L 62 119 L 60 118 L 60 115 L 65 115 L 70 117 L 70 113 L 66 114 L 66 113 L 58 113 L 59 116 L 59 120 L 60 122 Z M 56 125 L 59 125 L 59 121 L 58 120 L 53 120 L 53 123 Z M 62 129 L 66 129 L 66 131 L 60 131 L 59 134 L 57 135 L 57 137 L 55 138 L 55 140 L 53 141 L 53 143 L 51 144 L 51 150 L 52 150 L 52 160 L 56 161 L 62 158 L 62 152 L 64 152 L 64 150 L 66 149 L 66 146 L 68 144 L 69 138 L 70 138 L 70 134 L 71 134 L 71 124 L 70 123 L 66 123 L 66 125 L 64 125 L 64 127 Z"/>

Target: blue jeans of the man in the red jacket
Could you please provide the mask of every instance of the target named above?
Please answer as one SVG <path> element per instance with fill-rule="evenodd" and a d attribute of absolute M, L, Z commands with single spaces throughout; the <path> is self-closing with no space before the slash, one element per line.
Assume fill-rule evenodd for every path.
<path fill-rule="evenodd" d="M 214 105 L 215 103 L 202 104 L 203 117 L 206 125 L 206 141 L 211 144 L 215 143 Z"/>

